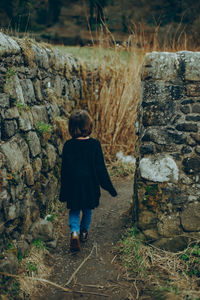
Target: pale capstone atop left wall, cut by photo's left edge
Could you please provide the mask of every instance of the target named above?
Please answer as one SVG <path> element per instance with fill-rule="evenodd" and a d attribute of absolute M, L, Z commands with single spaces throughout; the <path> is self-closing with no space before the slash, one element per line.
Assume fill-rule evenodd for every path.
<path fill-rule="evenodd" d="M 19 54 L 20 51 L 21 49 L 14 39 L 0 32 L 0 55 Z"/>

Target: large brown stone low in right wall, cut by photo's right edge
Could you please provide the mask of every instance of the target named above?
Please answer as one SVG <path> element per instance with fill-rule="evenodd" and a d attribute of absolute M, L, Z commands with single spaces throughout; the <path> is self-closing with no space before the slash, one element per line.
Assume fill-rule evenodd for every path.
<path fill-rule="evenodd" d="M 189 203 L 181 213 L 181 224 L 185 231 L 200 230 L 200 203 Z"/>

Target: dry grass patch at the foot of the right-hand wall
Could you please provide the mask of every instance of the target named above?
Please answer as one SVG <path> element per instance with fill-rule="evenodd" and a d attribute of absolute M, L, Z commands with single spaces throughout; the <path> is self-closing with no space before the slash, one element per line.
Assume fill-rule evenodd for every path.
<path fill-rule="evenodd" d="M 142 243 L 132 229 L 119 242 L 117 253 L 126 269 L 124 278 L 136 284 L 138 297 L 149 290 L 154 299 L 165 299 L 169 292 L 180 295 L 180 299 L 199 299 L 199 241 L 172 253 Z"/>

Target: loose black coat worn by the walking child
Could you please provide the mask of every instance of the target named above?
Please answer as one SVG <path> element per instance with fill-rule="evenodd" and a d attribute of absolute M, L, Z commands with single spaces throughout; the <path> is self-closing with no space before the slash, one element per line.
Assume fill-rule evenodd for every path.
<path fill-rule="evenodd" d="M 93 209 L 99 205 L 100 186 L 117 195 L 108 175 L 101 144 L 94 138 L 70 139 L 62 153 L 60 201 L 70 209 Z"/>

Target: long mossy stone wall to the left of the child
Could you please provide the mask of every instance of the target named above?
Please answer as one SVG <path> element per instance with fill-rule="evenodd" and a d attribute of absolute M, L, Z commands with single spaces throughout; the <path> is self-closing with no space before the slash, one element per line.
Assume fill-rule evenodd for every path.
<path fill-rule="evenodd" d="M 58 193 L 69 113 L 83 92 L 80 64 L 48 45 L 0 33 L 0 250 L 55 239 L 45 215 Z M 21 243 L 21 244 L 20 244 Z"/>

